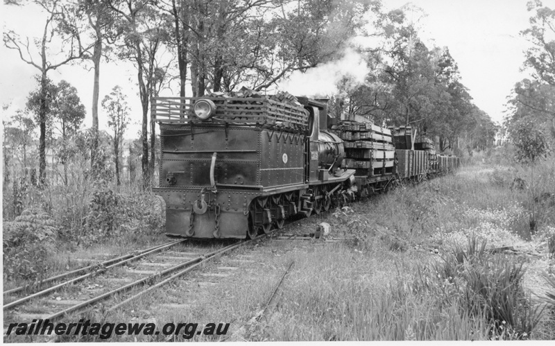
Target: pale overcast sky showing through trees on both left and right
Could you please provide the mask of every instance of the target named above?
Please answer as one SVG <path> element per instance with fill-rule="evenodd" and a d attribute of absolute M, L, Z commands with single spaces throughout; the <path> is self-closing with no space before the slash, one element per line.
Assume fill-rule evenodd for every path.
<path fill-rule="evenodd" d="M 426 42 L 434 40 L 436 46 L 447 46 L 459 64 L 463 84 L 470 89 L 475 104 L 494 121 L 501 121 L 506 96 L 513 85 L 526 76 L 520 73 L 527 42 L 519 32 L 528 26 L 530 13 L 527 0 L 414 0 L 427 17 L 421 19 L 420 36 Z M 388 9 L 399 8 L 406 0 L 383 0 Z M 3 6 L 0 10 L 3 29 L 11 28 L 20 35 L 41 35 L 44 15 L 25 7 Z M 428 46 L 431 46 L 428 44 Z M 28 93 L 35 87 L 33 75 L 38 70 L 19 59 L 17 51 L 0 48 L 0 103 L 12 103 L 8 112 L 24 107 Z M 60 67 L 49 72 L 58 82 L 65 79 L 76 86 L 81 101 L 87 107 L 85 126 L 92 125 L 92 71 L 83 67 Z M 136 74 L 128 64 L 101 65 L 100 98 L 114 85 L 124 87 L 135 123 L 126 137 L 135 137 L 140 130 L 141 107 L 136 92 Z M 177 90 L 176 90 L 177 92 Z M 99 107 L 100 108 L 100 107 Z M 106 117 L 100 112 L 100 127 L 106 129 Z"/>

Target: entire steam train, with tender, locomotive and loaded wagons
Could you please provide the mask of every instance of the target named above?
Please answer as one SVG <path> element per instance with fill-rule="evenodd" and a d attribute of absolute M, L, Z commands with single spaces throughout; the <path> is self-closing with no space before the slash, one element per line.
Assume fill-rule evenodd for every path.
<path fill-rule="evenodd" d="M 356 117 L 336 121 L 327 100 L 249 89 L 200 98 L 159 97 L 160 183 L 166 233 L 244 239 L 459 166 L 415 148 L 410 128 L 382 128 Z"/>

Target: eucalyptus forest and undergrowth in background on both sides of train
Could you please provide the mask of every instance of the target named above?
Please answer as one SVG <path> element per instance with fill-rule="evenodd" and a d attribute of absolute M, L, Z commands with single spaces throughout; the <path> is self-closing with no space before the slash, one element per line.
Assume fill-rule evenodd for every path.
<path fill-rule="evenodd" d="M 515 84 L 503 128 L 472 103 L 448 47 L 422 42 L 418 22 L 410 19 L 420 12 L 411 6 L 384 11 L 380 1 L 354 0 L 5 3 L 40 6 L 45 13 L 42 37 L 3 34 L 22 64 L 37 69 L 26 107 L 3 117 L 3 221 L 17 224 L 4 227 L 5 260 L 6 249 L 25 243 L 35 254 L 33 244 L 40 248 L 52 236 L 86 244 L 114 232 L 159 230 L 161 207 L 150 191 L 158 144 L 149 111 L 151 98 L 172 83 L 181 96 L 241 86 L 271 93 L 293 73 L 321 71 L 356 55 L 364 69 L 341 76 L 333 94 L 318 94 L 318 83 L 305 85 L 310 96 L 330 98 L 334 116 L 357 114 L 382 126 L 411 123 L 438 139 L 439 151 L 461 156 L 488 150 L 499 131 L 523 143 L 540 136 L 543 153 L 555 137 L 555 12 L 540 1 L 529 3 L 530 27 L 521 33 L 533 44 L 523 58 L 532 77 Z M 142 114 L 130 114 L 118 86 L 99 95 L 101 66 L 116 60 L 136 69 Z M 50 79 L 65 64 L 94 71 L 92 100 Z M 86 112 L 92 128 L 83 126 Z M 99 130 L 99 112 L 108 115 L 108 132 Z M 126 133 L 131 119 L 142 122 L 139 137 Z"/>

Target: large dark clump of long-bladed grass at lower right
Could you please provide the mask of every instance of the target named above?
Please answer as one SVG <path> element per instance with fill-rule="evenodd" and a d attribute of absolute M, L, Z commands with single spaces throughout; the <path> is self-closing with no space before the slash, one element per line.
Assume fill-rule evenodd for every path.
<path fill-rule="evenodd" d="M 461 311 L 485 318 L 493 325 L 492 338 L 527 338 L 540 322 L 543 308 L 524 293 L 522 262 L 486 250 L 475 236 L 466 250 L 460 245 L 435 263 L 438 278 L 452 286 Z"/>

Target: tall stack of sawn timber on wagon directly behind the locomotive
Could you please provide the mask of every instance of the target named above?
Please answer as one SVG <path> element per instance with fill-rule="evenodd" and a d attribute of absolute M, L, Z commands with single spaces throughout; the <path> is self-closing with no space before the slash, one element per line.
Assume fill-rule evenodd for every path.
<path fill-rule="evenodd" d="M 342 121 L 332 129 L 344 141 L 345 166 L 356 169 L 360 186 L 395 176 L 395 147 L 390 130 L 359 121 Z"/>

